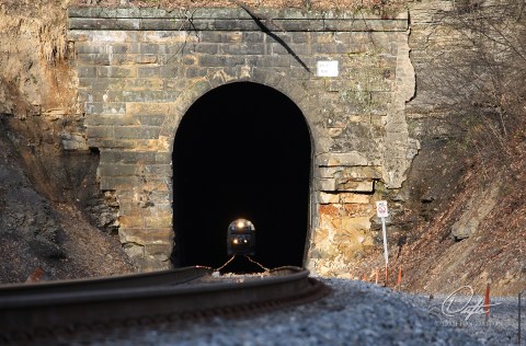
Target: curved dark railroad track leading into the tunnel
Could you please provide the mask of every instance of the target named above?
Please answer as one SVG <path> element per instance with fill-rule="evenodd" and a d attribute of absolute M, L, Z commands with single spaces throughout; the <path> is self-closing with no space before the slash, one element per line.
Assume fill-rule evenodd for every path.
<path fill-rule="evenodd" d="M 0 286 L 0 344 L 112 326 L 236 316 L 317 300 L 330 292 L 307 269 L 219 276 L 206 267 Z"/>

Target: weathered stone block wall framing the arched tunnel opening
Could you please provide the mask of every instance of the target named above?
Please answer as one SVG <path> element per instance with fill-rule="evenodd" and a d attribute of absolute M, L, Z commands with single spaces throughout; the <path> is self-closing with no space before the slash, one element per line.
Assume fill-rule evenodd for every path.
<path fill-rule="evenodd" d="M 89 146 L 103 191 L 115 191 L 119 237 L 142 270 L 173 247 L 171 157 L 186 109 L 214 88 L 252 81 L 301 109 L 313 142 L 306 266 L 347 275 L 375 244 L 374 203 L 400 188 L 419 150 L 405 103 L 414 93 L 408 15 L 265 10 L 69 10 Z M 336 60 L 338 77 L 317 62 Z M 276 126 L 278 126 L 276 124 Z"/>

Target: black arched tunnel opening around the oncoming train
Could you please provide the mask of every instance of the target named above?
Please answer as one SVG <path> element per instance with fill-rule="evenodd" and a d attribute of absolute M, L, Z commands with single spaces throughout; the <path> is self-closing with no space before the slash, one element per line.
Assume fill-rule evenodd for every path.
<path fill-rule="evenodd" d="M 221 266 L 227 229 L 255 227 L 266 267 L 302 266 L 309 228 L 311 140 L 301 111 L 281 92 L 252 82 L 214 89 L 179 126 L 173 149 L 175 266 Z M 232 272 L 253 272 L 241 261 Z"/>

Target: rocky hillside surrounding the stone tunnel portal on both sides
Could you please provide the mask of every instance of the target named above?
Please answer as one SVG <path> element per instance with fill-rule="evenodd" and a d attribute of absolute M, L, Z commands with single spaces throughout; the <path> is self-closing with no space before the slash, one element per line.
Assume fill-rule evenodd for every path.
<path fill-rule="evenodd" d="M 387 11 L 403 4 L 390 1 L 386 8 L 381 2 L 335 1 L 335 9 Z M 483 54 L 464 54 L 455 35 L 480 30 L 468 16 L 474 2 L 458 1 L 456 12 L 446 11 L 456 18 L 443 16 L 446 2 L 407 3 L 418 78 L 408 122 L 421 150 L 403 187 L 385 196 L 393 210 L 388 222 L 391 272 L 403 268 L 403 289 L 410 291 L 447 292 L 462 285 L 480 290 L 490 281 L 494 292 L 514 295 L 526 288 L 526 88 L 521 83 L 526 44 L 514 41 L 508 54 L 496 56 L 487 49 L 489 43 L 499 45 L 508 36 L 493 36 L 495 43 L 488 41 L 495 33 L 479 33 L 488 39 L 472 41 L 477 49 L 469 51 Z M 134 270 L 115 238 L 113 197 L 98 188 L 98 153 L 85 146 L 69 65 L 72 51 L 65 39 L 66 10 L 73 3 L 263 5 L 227 0 L 0 3 L 1 282 L 24 281 L 38 267 L 52 279 Z M 333 1 L 264 4 L 334 9 Z M 524 33 L 524 16 L 514 19 L 519 24 L 514 30 Z M 436 23 L 451 20 L 471 26 L 451 31 L 448 24 L 449 31 L 441 32 Z M 512 31 L 513 37 L 526 37 L 517 33 Z M 451 70 L 460 64 L 462 70 Z M 363 273 L 381 265 L 379 237 L 376 249 L 364 257 Z"/>

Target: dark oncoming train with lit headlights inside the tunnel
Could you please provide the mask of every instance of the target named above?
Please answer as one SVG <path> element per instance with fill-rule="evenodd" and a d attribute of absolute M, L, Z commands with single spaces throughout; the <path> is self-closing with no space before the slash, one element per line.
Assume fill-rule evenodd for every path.
<path fill-rule="evenodd" d="M 254 224 L 247 219 L 237 219 L 228 226 L 227 252 L 232 255 L 255 254 Z"/>

